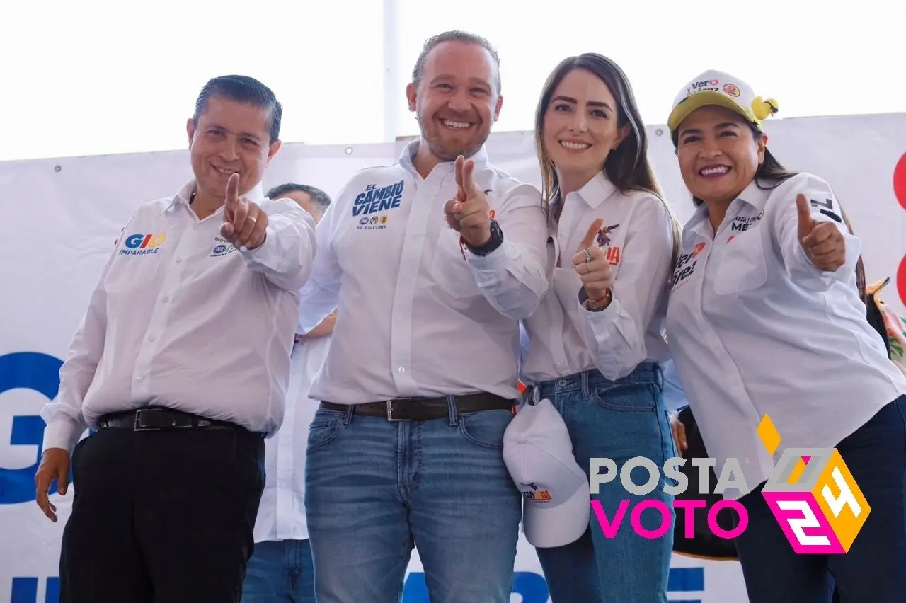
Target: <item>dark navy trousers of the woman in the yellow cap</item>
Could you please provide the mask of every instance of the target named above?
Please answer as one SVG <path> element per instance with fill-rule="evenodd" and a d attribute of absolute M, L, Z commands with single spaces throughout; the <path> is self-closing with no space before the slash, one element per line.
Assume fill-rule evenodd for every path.
<path fill-rule="evenodd" d="M 749 603 L 906 600 L 906 396 L 836 445 L 872 511 L 844 555 L 796 554 L 759 484 L 739 499 L 748 527 L 736 539 Z M 833 579 L 832 579 L 833 576 Z"/>

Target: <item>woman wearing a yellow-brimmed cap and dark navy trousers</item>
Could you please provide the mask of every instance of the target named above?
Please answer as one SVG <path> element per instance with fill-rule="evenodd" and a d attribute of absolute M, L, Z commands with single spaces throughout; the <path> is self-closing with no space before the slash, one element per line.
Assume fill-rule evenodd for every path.
<path fill-rule="evenodd" d="M 831 579 L 844 603 L 899 603 L 906 379 L 865 320 L 861 245 L 831 187 L 767 148 L 776 110 L 723 72 L 674 103 L 697 209 L 671 279 L 670 351 L 718 472 L 742 470 L 724 496 L 748 514 L 736 542 L 750 603 L 826 603 Z"/>

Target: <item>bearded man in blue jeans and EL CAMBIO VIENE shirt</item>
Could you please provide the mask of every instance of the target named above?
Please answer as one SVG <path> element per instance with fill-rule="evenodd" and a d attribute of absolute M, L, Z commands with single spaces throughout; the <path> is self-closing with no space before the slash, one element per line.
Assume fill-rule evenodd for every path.
<path fill-rule="evenodd" d="M 510 600 L 522 509 L 503 435 L 547 228 L 537 189 L 487 161 L 498 66 L 476 35 L 431 38 L 407 87 L 420 139 L 317 227 L 302 328 L 337 308 L 306 451 L 319 603 L 399 600 L 413 546 L 434 603 Z"/>

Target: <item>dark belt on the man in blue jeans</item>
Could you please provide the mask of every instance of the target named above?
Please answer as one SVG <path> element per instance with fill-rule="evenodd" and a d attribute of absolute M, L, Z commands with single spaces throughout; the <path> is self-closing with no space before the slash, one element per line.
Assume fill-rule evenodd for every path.
<path fill-rule="evenodd" d="M 480 413 L 485 410 L 512 411 L 515 405 L 516 402 L 514 400 L 487 393 L 466 394 L 456 397 L 458 415 Z M 347 412 L 352 407 L 352 412 L 356 415 L 383 416 L 388 421 L 429 421 L 449 416 L 449 405 L 446 397 L 398 397 L 393 400 L 352 405 L 322 402 L 321 407 L 326 410 L 340 412 Z"/>

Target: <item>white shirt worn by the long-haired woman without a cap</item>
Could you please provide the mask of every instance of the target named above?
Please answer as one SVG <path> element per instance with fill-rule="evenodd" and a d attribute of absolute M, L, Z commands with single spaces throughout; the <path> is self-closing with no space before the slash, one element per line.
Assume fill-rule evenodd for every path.
<path fill-rule="evenodd" d="M 589 311 L 580 300 L 573 255 L 597 218 L 603 225 L 595 244 L 606 249 L 614 282 L 610 305 Z M 622 193 L 599 173 L 566 195 L 559 225 L 552 219 L 553 287 L 525 321 L 531 339 L 525 378 L 539 382 L 598 369 L 615 380 L 645 360 L 668 356 L 661 333 L 673 242 L 667 206 L 651 193 Z"/>

